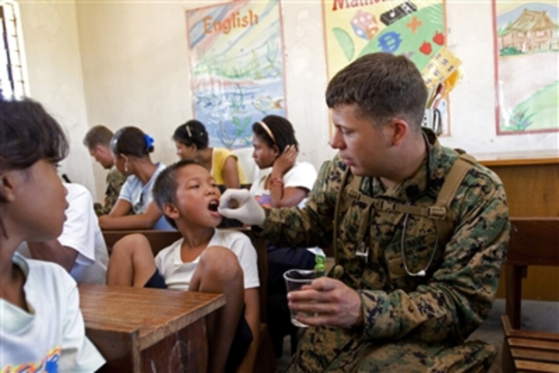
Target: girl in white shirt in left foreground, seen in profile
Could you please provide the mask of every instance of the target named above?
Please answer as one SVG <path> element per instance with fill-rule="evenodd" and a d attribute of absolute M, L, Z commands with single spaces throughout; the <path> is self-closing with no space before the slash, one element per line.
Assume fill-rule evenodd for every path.
<path fill-rule="evenodd" d="M 15 253 L 62 232 L 68 203 L 56 167 L 68 141 L 31 100 L 0 96 L 0 123 L 0 371 L 96 371 L 105 359 L 86 338 L 73 278 Z"/>

